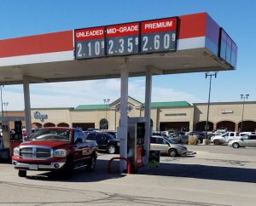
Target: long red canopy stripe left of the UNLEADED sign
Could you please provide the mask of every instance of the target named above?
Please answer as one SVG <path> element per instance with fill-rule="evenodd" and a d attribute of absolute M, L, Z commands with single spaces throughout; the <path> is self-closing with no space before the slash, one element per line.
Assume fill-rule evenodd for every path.
<path fill-rule="evenodd" d="M 73 50 L 73 31 L 0 40 L 0 58 Z"/>

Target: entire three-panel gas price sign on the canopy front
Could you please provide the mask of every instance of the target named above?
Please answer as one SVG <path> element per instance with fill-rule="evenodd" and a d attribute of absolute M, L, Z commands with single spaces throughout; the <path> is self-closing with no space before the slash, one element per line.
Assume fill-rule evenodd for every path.
<path fill-rule="evenodd" d="M 75 59 L 150 54 L 177 49 L 177 17 L 74 31 Z"/>

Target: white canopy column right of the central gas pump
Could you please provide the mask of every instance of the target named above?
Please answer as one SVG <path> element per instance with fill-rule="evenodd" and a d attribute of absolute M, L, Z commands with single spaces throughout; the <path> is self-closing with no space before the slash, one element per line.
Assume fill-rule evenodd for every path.
<path fill-rule="evenodd" d="M 150 136 L 152 134 L 150 128 L 150 103 L 151 103 L 151 90 L 152 90 L 152 70 L 147 69 L 146 72 L 146 89 L 145 89 L 145 120 L 146 120 L 146 131 L 144 137 L 144 150 L 145 150 L 145 158 L 144 164 L 148 165 L 148 157 L 149 157 L 149 146 L 150 146 Z"/>

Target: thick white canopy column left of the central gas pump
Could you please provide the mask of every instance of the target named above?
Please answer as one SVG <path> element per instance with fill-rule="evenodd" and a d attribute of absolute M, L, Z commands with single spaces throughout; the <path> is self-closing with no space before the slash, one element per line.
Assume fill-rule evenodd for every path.
<path fill-rule="evenodd" d="M 120 98 L 120 125 L 119 125 L 119 139 L 120 139 L 120 157 L 127 158 L 127 131 L 128 131 L 128 69 L 123 66 L 121 68 L 121 98 Z M 125 161 L 120 161 L 119 171 L 122 173 L 126 169 Z"/>

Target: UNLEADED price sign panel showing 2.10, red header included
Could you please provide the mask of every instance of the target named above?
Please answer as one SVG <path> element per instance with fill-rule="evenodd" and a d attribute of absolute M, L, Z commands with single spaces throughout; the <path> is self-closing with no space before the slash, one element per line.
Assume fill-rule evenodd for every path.
<path fill-rule="evenodd" d="M 105 27 L 75 30 L 74 35 L 77 60 L 105 56 Z"/>

